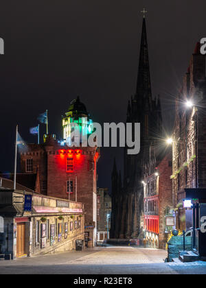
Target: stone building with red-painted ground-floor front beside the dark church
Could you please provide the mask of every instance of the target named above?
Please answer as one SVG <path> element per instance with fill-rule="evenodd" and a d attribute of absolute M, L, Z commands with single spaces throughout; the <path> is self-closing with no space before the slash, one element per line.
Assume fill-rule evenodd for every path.
<path fill-rule="evenodd" d="M 161 155 L 150 147 L 150 160 L 144 174 L 144 237 L 152 248 L 165 248 L 168 241 L 166 217 L 171 216 L 172 206 L 172 151 Z M 172 227 L 171 227 L 172 230 Z"/>

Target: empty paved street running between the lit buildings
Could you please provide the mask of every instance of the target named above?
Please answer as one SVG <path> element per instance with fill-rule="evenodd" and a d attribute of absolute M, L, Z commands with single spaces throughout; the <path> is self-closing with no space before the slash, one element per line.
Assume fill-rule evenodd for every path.
<path fill-rule="evenodd" d="M 164 263 L 165 250 L 108 246 L 0 261 L 0 274 L 205 274 L 206 263 Z"/>

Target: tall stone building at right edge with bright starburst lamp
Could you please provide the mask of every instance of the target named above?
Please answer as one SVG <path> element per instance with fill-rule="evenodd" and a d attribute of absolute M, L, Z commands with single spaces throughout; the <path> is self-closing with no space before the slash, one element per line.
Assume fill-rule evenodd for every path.
<path fill-rule="evenodd" d="M 176 96 L 171 178 L 179 230 L 192 227 L 192 209 L 182 206 L 184 189 L 206 187 L 205 72 L 205 56 L 201 55 L 200 43 L 197 43 Z"/>

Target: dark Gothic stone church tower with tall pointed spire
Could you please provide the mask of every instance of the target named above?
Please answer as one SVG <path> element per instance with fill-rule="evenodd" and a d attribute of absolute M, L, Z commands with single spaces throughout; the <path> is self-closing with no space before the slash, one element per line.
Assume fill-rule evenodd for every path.
<path fill-rule="evenodd" d="M 127 147 L 124 151 L 123 183 L 114 163 L 111 238 L 135 239 L 141 237 L 141 227 L 144 226 L 141 225 L 141 215 L 144 214 L 144 166 L 148 162 L 150 145 L 157 142 L 162 134 L 160 99 L 152 99 L 145 16 L 141 32 L 137 89 L 128 101 L 126 122 L 141 123 L 141 146 L 137 155 L 126 154 Z"/>

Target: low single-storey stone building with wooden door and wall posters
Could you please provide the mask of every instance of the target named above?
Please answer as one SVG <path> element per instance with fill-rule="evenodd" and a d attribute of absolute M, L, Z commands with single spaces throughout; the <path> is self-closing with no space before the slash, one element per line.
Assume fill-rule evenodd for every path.
<path fill-rule="evenodd" d="M 76 240 L 84 249 L 82 203 L 5 188 L 0 203 L 0 254 L 5 259 L 73 250 Z"/>

